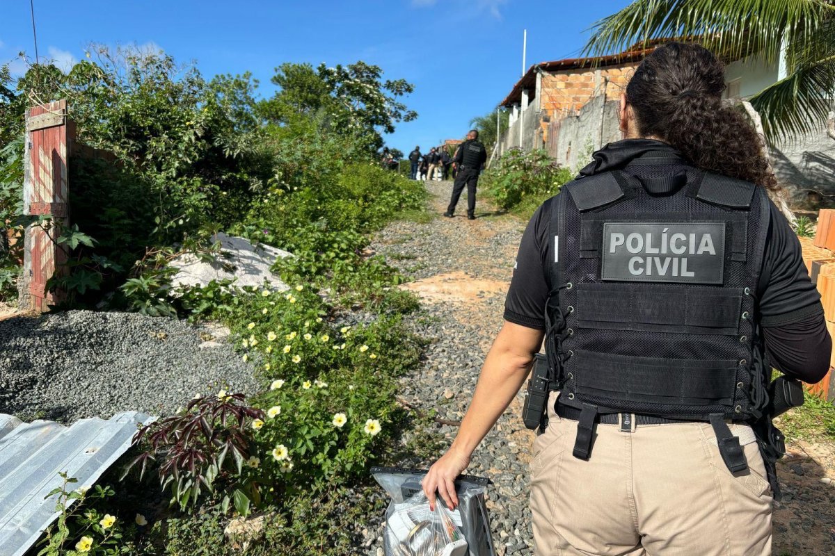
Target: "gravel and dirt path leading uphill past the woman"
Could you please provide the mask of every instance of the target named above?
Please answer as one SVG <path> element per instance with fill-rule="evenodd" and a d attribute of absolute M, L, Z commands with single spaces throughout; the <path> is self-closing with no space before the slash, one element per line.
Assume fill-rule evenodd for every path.
<path fill-rule="evenodd" d="M 439 417 L 455 420 L 463 417 L 483 358 L 503 322 L 504 295 L 525 223 L 498 213 L 483 199 L 475 221 L 460 215 L 443 218 L 451 183 L 428 183 L 427 188 L 437 218 L 392 223 L 372 248 L 412 278 L 404 287 L 423 298 L 434 319 L 422 332 L 435 342 L 420 379 L 404 384 L 403 397 L 415 407 L 436 408 Z M 462 198 L 459 213 L 465 213 L 464 202 Z M 493 480 L 488 507 L 500 555 L 533 553 L 527 464 L 534 434 L 521 421 L 523 398 L 524 391 L 468 469 Z M 451 440 L 456 429 L 443 426 L 440 432 Z M 773 554 L 835 554 L 835 444 L 790 439 L 789 449 L 789 457 L 779 463 L 785 498 L 775 505 Z M 422 463 L 431 462 L 413 462 Z M 833 480 L 825 483 L 823 478 Z"/>

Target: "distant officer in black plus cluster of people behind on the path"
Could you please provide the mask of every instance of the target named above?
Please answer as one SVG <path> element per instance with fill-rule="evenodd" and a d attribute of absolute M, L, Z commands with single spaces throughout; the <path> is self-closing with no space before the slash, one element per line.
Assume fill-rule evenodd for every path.
<path fill-rule="evenodd" d="M 439 179 L 447 179 L 449 169 L 452 168 L 455 179 L 453 195 L 449 199 L 447 212 L 443 213 L 443 216 L 447 218 L 455 216 L 455 206 L 466 187 L 467 218 L 475 220 L 475 191 L 478 186 L 478 176 L 484 164 L 487 163 L 487 149 L 481 141 L 478 141 L 478 130 L 471 129 L 467 133 L 467 140 L 458 146 L 453 157 L 449 156 L 445 148 L 433 147 L 428 153 L 422 155 L 420 147 L 415 147 L 409 153 L 409 162 L 412 163 L 412 179 L 433 179 L 436 170 L 441 173 Z"/>

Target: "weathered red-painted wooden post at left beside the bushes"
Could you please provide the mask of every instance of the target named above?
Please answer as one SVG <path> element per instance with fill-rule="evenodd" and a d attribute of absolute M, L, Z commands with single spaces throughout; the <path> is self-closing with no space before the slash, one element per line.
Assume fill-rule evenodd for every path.
<path fill-rule="evenodd" d="M 23 278 L 18 287 L 19 307 L 48 311 L 63 300 L 60 292 L 47 291 L 47 282 L 62 272 L 67 251 L 54 242 L 58 228 L 69 225 L 68 155 L 75 128 L 67 120 L 67 101 L 29 108 L 23 168 L 23 213 L 51 215 L 53 223 L 26 228 Z"/>

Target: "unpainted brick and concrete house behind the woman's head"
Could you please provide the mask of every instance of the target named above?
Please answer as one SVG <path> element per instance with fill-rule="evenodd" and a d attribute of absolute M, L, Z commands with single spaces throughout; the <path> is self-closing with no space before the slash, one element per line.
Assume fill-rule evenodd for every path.
<path fill-rule="evenodd" d="M 593 151 L 620 139 L 620 93 L 654 48 L 532 65 L 501 103 L 510 111 L 510 122 L 493 156 L 509 148 L 544 148 L 556 162 L 582 168 Z M 744 99 L 785 78 L 786 64 L 752 55 L 727 63 L 725 73 L 725 96 Z M 835 201 L 835 141 L 823 125 L 816 133 L 770 146 L 770 153 L 792 206 Z"/>

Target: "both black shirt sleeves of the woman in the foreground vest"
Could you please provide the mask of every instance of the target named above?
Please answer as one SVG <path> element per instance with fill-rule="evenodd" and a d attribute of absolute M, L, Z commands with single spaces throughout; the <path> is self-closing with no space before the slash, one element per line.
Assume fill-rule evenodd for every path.
<path fill-rule="evenodd" d="M 546 201 L 530 219 L 504 303 L 505 320 L 529 328 L 545 328 L 548 268 L 554 260 L 553 245 L 548 241 L 552 202 L 553 198 Z M 803 264 L 800 242 L 773 204 L 757 299 L 772 365 L 804 382 L 820 381 L 829 369 L 832 338 L 820 294 Z"/>

